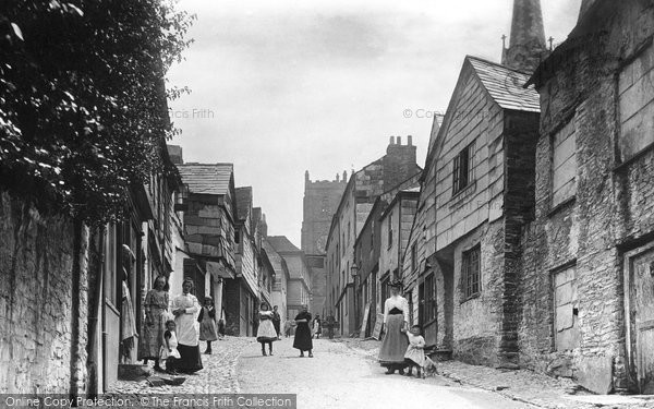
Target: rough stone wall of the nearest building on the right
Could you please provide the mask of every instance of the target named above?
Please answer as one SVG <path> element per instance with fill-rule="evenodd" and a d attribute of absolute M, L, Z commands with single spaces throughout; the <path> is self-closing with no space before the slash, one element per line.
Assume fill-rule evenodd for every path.
<path fill-rule="evenodd" d="M 569 51 L 555 52 L 552 75 L 540 84 L 535 221 L 522 239 L 520 358 L 523 366 L 608 393 L 633 387 L 626 366 L 623 254 L 654 233 L 646 199 L 654 194 L 654 152 L 620 164 L 616 73 L 654 34 L 654 10 L 634 0 L 601 3 L 589 11 L 585 32 L 564 48 Z M 576 124 L 577 192 L 553 207 L 550 141 L 569 120 Z M 577 270 L 580 339 L 578 348 L 557 351 L 552 275 L 567 263 Z"/>

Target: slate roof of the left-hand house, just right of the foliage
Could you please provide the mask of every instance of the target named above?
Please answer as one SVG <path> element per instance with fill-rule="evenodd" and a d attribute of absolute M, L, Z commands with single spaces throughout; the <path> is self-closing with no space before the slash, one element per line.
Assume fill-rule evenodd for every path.
<path fill-rule="evenodd" d="M 191 193 L 227 194 L 234 166 L 232 164 L 184 164 L 178 165 L 182 181 Z"/>

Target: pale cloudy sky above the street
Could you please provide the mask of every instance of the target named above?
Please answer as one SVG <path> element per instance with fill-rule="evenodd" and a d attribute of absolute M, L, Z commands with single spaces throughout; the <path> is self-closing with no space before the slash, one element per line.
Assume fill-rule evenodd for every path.
<path fill-rule="evenodd" d="M 543 0 L 555 45 L 581 0 Z M 413 136 L 424 165 L 467 55 L 498 61 L 513 0 L 180 0 L 197 15 L 168 73 L 185 163 L 232 163 L 268 233 L 300 246 L 304 171 L 334 180 Z"/>

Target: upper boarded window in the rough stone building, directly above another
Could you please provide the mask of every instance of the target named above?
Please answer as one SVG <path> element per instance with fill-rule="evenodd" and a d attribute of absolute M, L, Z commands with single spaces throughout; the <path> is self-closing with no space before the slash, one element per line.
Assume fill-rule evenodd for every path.
<path fill-rule="evenodd" d="M 577 133 L 574 120 L 554 135 L 552 160 L 552 207 L 577 193 Z"/>

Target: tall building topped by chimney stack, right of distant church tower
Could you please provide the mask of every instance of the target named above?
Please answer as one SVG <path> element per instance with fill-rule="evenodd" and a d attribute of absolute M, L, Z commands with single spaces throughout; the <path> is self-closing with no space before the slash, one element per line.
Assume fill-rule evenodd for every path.
<path fill-rule="evenodd" d="M 356 330 L 355 293 L 351 277 L 356 237 L 377 196 L 415 177 L 420 171 L 411 136 L 408 137 L 407 145 L 402 145 L 400 136 L 397 140 L 391 136 L 385 156 L 350 177 L 334 214 L 327 239 L 325 310 L 335 312 L 341 334 Z"/>

